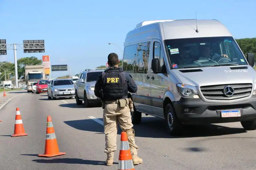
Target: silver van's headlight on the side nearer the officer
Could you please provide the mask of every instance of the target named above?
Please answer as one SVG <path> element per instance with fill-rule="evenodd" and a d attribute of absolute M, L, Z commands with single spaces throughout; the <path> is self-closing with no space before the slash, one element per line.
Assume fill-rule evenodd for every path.
<path fill-rule="evenodd" d="M 184 98 L 200 99 L 197 88 L 187 84 L 177 84 L 180 95 Z"/>

